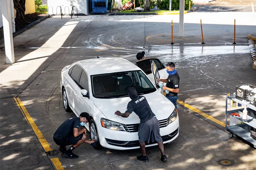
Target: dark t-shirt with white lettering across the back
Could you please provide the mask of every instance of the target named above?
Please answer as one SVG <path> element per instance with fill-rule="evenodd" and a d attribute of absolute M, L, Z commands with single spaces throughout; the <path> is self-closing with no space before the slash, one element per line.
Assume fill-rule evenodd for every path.
<path fill-rule="evenodd" d="M 134 112 L 136 115 L 140 118 L 140 123 L 147 122 L 152 117 L 156 116 L 149 104 L 147 99 L 144 96 L 138 96 L 134 99 L 132 99 L 128 105 L 126 111 L 127 113 Z"/>

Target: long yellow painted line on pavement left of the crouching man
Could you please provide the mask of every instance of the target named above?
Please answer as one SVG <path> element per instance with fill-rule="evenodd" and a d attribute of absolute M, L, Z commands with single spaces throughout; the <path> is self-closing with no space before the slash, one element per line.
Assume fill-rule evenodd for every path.
<path fill-rule="evenodd" d="M 36 134 L 36 137 L 38 138 L 39 142 L 41 143 L 41 145 L 44 148 L 45 152 L 49 152 L 52 151 L 52 148 L 50 148 L 50 145 L 48 144 L 48 142 L 46 141 L 46 139 L 44 138 L 43 134 L 41 133 L 41 131 L 38 129 L 38 127 L 36 126 L 36 123 L 34 122 L 34 120 L 30 117 L 27 109 L 24 107 L 23 103 L 20 101 L 20 98 L 13 98 L 18 107 L 20 108 L 22 114 L 24 115 L 25 119 L 27 119 L 27 122 L 29 123 L 29 125 L 31 126 L 31 128 L 33 129 L 33 131 Z"/>

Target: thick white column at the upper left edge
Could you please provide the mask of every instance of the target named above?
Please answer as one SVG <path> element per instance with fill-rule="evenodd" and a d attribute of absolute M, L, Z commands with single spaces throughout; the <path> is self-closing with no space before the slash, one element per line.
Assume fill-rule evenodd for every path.
<path fill-rule="evenodd" d="M 6 64 L 14 63 L 13 39 L 12 39 L 12 17 L 10 0 L 1 0 L 1 11 L 4 27 L 4 47 Z"/>

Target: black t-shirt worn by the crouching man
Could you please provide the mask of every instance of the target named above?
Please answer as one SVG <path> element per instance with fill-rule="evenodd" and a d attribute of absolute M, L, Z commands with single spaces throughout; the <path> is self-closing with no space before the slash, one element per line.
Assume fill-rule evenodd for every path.
<path fill-rule="evenodd" d="M 79 129 L 80 118 L 72 117 L 63 122 L 60 127 L 56 130 L 53 137 L 56 139 L 63 139 L 66 136 L 74 135 L 74 128 Z"/>

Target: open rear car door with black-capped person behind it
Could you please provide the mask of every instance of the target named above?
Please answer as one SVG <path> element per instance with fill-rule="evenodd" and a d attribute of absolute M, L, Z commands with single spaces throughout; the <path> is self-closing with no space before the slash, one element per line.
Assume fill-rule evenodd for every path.
<path fill-rule="evenodd" d="M 154 79 L 152 77 L 152 70 L 151 70 L 151 64 L 154 61 L 156 68 L 159 72 L 159 75 L 161 78 L 166 79 L 168 74 L 166 73 L 166 68 L 164 67 L 164 64 L 160 62 L 158 58 L 146 58 L 143 60 L 136 61 L 136 65 L 140 67 L 141 70 L 143 70 L 149 77 L 150 81 L 153 83 Z"/>

